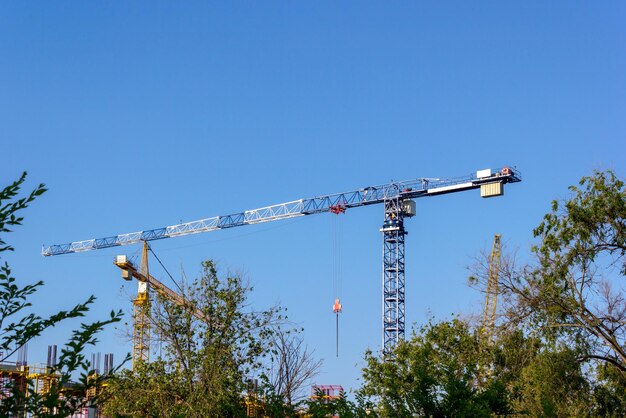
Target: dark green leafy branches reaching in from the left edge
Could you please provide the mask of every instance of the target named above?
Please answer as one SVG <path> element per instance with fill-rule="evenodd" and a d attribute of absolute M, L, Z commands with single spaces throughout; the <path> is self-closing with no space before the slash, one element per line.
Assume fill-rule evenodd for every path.
<path fill-rule="evenodd" d="M 11 227 L 21 225 L 23 217 L 19 215 L 20 211 L 46 191 L 44 185 L 40 184 L 27 196 L 19 197 L 25 180 L 26 173 L 23 173 L 18 180 L 0 191 L 0 255 L 6 251 L 14 251 L 4 240 L 4 234 L 11 232 Z M 0 362 L 9 361 L 20 347 L 40 336 L 46 329 L 66 319 L 85 316 L 89 305 L 95 300 L 92 296 L 68 311 L 42 318 L 34 312 L 27 312 L 31 308 L 29 296 L 42 285 L 43 282 L 38 281 L 20 287 L 8 263 L 0 266 Z M 108 376 L 94 375 L 83 351 L 88 345 L 96 344 L 96 334 L 106 325 L 118 322 L 120 316 L 121 312 L 111 312 L 109 319 L 82 324 L 73 332 L 61 350 L 57 365 L 50 370 L 58 375 L 58 379 L 52 381 L 46 392 L 36 390 L 33 382 L 28 379 L 24 385 L 13 381 L 2 388 L 9 395 L 0 398 L 0 416 L 32 414 L 37 417 L 67 417 L 84 406 L 96 405 L 99 401 L 97 395 L 90 398 L 87 394 L 92 390 L 96 390 L 97 394 Z M 78 374 L 76 382 L 72 381 L 75 374 Z"/>

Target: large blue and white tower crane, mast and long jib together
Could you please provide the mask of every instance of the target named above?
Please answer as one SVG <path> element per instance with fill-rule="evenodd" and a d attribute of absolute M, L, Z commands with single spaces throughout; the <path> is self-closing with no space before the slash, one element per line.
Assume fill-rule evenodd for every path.
<path fill-rule="evenodd" d="M 404 221 L 415 215 L 413 199 L 480 189 L 482 197 L 501 196 L 504 184 L 522 180 L 520 173 L 509 167 L 479 170 L 466 176 L 440 179 L 416 178 L 368 186 L 351 192 L 293 200 L 277 205 L 251 209 L 230 215 L 214 216 L 162 228 L 94 238 L 67 244 L 44 246 L 43 256 L 111 248 L 140 242 L 211 232 L 220 229 L 273 222 L 298 216 L 344 211 L 373 204 L 384 205 L 383 227 L 383 354 L 389 355 L 405 331 L 405 251 L 407 234 Z"/>

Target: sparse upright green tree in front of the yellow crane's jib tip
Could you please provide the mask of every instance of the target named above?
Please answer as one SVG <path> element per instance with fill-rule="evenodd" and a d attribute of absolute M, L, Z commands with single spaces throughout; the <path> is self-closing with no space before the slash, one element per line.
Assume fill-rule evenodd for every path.
<path fill-rule="evenodd" d="M 202 268 L 199 279 L 181 286 L 187 307 L 157 298 L 151 320 L 154 334 L 162 338 L 163 355 L 112 381 L 105 413 L 245 416 L 247 380 L 261 370 L 281 315 L 277 308 L 251 310 L 251 288 L 238 275 L 220 277 L 211 261 Z M 196 309 L 203 320 L 192 314 Z"/>

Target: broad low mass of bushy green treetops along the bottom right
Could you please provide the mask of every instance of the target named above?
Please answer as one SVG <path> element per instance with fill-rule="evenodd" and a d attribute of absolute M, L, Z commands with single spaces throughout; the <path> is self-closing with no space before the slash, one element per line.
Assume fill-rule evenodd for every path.
<path fill-rule="evenodd" d="M 576 361 L 578 352 L 502 332 L 484 345 L 458 319 L 429 323 L 398 345 L 392 359 L 367 353 L 360 394 L 380 417 L 587 417 L 621 411 L 615 388 L 596 386 Z M 612 392 L 611 392 L 612 390 Z"/>

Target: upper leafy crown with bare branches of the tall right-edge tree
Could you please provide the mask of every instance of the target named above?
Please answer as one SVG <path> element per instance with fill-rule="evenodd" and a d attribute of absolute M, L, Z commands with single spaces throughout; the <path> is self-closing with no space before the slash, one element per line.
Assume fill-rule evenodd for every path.
<path fill-rule="evenodd" d="M 538 267 L 522 288 L 535 317 L 588 344 L 584 359 L 626 372 L 626 189 L 611 171 L 583 177 L 535 229 Z"/>

